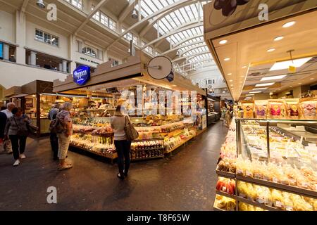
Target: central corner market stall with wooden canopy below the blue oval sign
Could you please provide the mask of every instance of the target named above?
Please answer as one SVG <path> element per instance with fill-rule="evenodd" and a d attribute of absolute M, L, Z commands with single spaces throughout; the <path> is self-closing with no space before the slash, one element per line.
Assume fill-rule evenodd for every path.
<path fill-rule="evenodd" d="M 75 75 L 64 82 L 54 81 L 54 91 L 60 95 L 87 95 L 86 102 L 82 101 L 72 112 L 74 135 L 70 146 L 111 161 L 116 159 L 110 118 L 118 101 L 123 99 L 139 131 L 139 138 L 132 141 L 132 161 L 171 155 L 197 136 L 199 127 L 206 129 L 206 121 L 189 114 L 194 109 L 206 118 L 204 91 L 177 72 L 172 80 L 154 79 L 147 72 L 148 61 L 149 58 L 139 55 L 115 67 L 111 61 L 104 63 L 82 85 L 74 82 Z M 89 105 L 92 100 L 97 103 Z"/>

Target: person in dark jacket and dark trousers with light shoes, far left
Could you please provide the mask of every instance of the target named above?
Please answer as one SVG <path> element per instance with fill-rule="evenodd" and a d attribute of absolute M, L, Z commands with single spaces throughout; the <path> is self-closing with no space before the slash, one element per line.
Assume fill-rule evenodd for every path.
<path fill-rule="evenodd" d="M 9 137 L 12 143 L 13 158 L 15 162 L 13 166 L 20 165 L 20 159 L 25 159 L 24 154 L 27 135 L 27 124 L 30 124 L 31 120 L 26 115 L 23 115 L 22 108 L 13 108 L 13 116 L 9 117 L 6 122 L 6 129 L 4 131 L 6 138 Z"/>

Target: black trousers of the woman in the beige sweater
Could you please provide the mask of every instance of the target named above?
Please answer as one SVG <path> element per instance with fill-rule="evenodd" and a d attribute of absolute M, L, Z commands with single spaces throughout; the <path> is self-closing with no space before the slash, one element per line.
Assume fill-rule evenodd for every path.
<path fill-rule="evenodd" d="M 114 141 L 114 144 L 118 153 L 119 173 L 123 176 L 123 170 L 125 171 L 125 174 L 128 174 L 130 168 L 131 141 Z"/>

